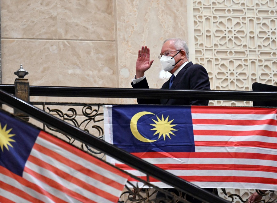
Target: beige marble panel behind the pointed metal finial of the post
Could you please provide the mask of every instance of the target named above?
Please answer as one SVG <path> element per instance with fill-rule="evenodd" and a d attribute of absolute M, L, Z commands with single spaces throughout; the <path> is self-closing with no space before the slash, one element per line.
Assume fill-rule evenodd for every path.
<path fill-rule="evenodd" d="M 2 84 L 14 84 L 23 65 L 30 85 L 58 85 L 58 42 L 2 39 Z"/>

